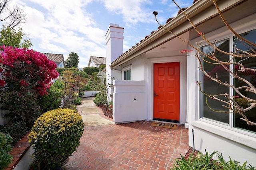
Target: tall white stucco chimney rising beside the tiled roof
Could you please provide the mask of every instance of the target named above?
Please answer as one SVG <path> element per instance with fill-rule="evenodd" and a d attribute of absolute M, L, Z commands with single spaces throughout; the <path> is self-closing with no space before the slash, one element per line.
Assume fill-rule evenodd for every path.
<path fill-rule="evenodd" d="M 109 65 L 123 53 L 123 33 L 124 27 L 120 27 L 118 24 L 110 23 L 108 31 L 105 35 L 107 85 L 108 83 L 112 84 L 111 77 L 116 77 L 116 79 L 121 78 L 121 72 L 117 70 L 111 70 Z M 112 92 L 113 90 L 108 89 L 108 102 L 112 100 L 109 96 L 112 94 Z"/>

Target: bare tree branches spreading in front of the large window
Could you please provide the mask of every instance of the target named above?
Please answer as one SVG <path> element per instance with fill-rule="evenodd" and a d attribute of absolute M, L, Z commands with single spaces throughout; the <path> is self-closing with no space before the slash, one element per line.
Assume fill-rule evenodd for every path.
<path fill-rule="evenodd" d="M 190 24 L 194 27 L 194 29 L 198 32 L 198 35 L 202 37 L 202 42 L 205 41 L 208 43 L 208 45 L 212 48 L 211 51 L 203 51 L 200 49 L 200 44 L 196 46 L 190 44 L 188 41 L 182 39 L 178 35 L 176 35 L 174 32 L 166 29 L 163 25 L 161 25 L 158 20 L 156 21 L 159 23 L 161 27 L 166 29 L 166 31 L 170 32 L 174 36 L 178 37 L 181 39 L 184 43 L 192 47 L 197 51 L 195 54 L 196 58 L 198 59 L 199 62 L 199 69 L 201 72 L 204 74 L 205 77 L 207 77 L 209 80 L 212 80 L 214 82 L 217 82 L 218 84 L 221 84 L 222 86 L 226 86 L 228 88 L 232 88 L 234 90 L 234 96 L 230 96 L 229 93 L 221 93 L 221 94 L 207 94 L 202 90 L 202 84 L 201 82 L 198 82 L 198 85 L 200 87 L 201 92 L 206 95 L 208 98 L 221 102 L 224 108 L 226 108 L 228 111 L 222 111 L 222 110 L 214 110 L 211 108 L 207 102 L 207 97 L 206 97 L 206 104 L 207 106 L 216 112 L 223 112 L 223 113 L 232 113 L 240 115 L 240 119 L 246 121 L 248 125 L 256 125 L 256 122 L 250 121 L 248 117 L 246 116 L 245 112 L 254 110 L 252 113 L 255 115 L 255 108 L 256 108 L 256 69 L 255 67 L 253 68 L 247 68 L 244 66 L 244 63 L 246 62 L 254 62 L 256 64 L 256 44 L 249 41 L 248 39 L 245 38 L 245 35 L 239 35 L 232 29 L 232 27 L 228 24 L 226 21 L 225 17 L 222 15 L 222 12 L 220 11 L 218 4 L 216 3 L 215 0 L 212 0 L 214 2 L 214 5 L 216 7 L 216 10 L 222 19 L 222 21 L 225 23 L 225 25 L 228 27 L 234 35 L 236 35 L 236 42 L 240 43 L 240 45 L 243 45 L 243 47 L 238 47 L 234 46 L 234 51 L 231 52 L 225 52 L 222 51 L 218 46 L 218 43 L 211 43 L 208 41 L 208 39 L 204 36 L 204 33 L 200 32 L 198 28 L 194 25 L 194 23 L 188 18 L 188 16 L 184 13 L 182 8 L 174 1 L 172 0 L 176 6 L 180 9 L 182 14 L 186 17 L 186 19 L 190 22 Z M 158 12 L 154 11 L 153 12 L 155 18 L 158 15 Z M 201 42 L 201 43 L 202 43 Z M 246 50 L 244 50 L 246 49 Z M 188 53 L 191 51 L 183 50 L 181 53 Z M 220 55 L 222 56 L 227 56 L 227 57 L 219 57 Z M 232 59 L 229 58 L 229 56 L 232 56 Z M 246 62 L 245 62 L 246 61 Z M 208 70 L 205 70 L 204 64 L 210 64 L 213 65 L 213 69 L 211 72 L 214 72 L 214 74 L 211 74 L 211 72 L 208 72 Z M 234 69 L 231 67 L 234 65 Z M 218 67 L 218 68 L 216 68 Z M 214 71 L 213 71 L 214 70 Z M 218 70 L 218 72 L 216 72 Z M 222 71 L 219 71 L 222 70 Z M 221 79 L 220 74 L 221 72 L 228 73 L 228 75 L 231 75 L 234 78 L 234 84 L 227 82 L 223 79 Z M 248 77 L 250 80 L 248 80 Z M 248 94 L 249 93 L 249 94 Z M 237 96 L 236 96 L 237 94 Z M 238 100 L 236 99 L 238 97 Z M 224 98 L 226 100 L 224 100 Z"/>

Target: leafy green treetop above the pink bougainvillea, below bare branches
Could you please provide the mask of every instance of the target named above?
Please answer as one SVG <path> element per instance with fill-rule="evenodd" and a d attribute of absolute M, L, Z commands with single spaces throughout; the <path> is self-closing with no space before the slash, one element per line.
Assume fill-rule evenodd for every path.
<path fill-rule="evenodd" d="M 32 45 L 29 39 L 23 39 L 21 28 L 16 32 L 15 29 L 3 25 L 3 29 L 0 31 L 0 34 L 0 46 L 5 45 L 28 49 Z"/>

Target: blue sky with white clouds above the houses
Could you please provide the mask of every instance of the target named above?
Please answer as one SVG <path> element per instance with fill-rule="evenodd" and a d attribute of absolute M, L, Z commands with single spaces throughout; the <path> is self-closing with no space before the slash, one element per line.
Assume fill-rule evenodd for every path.
<path fill-rule="evenodd" d="M 29 35 L 31 49 L 41 53 L 79 56 L 80 68 L 86 67 L 90 56 L 106 57 L 105 34 L 110 23 L 124 27 L 124 47 L 128 50 L 176 16 L 178 8 L 172 0 L 12 0 L 26 13 L 27 21 L 19 25 Z M 193 0 L 176 0 L 188 7 Z M 3 24 L 3 23 L 2 23 Z"/>

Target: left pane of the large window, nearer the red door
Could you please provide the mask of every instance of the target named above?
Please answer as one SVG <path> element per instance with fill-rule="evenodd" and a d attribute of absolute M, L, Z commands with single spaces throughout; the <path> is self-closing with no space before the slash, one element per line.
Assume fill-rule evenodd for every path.
<path fill-rule="evenodd" d="M 229 52 L 229 40 L 220 41 L 216 43 L 216 47 L 221 49 L 222 51 Z M 214 48 L 210 45 L 202 47 L 202 51 L 205 54 L 210 55 L 211 53 L 214 53 Z M 224 55 L 223 53 L 218 52 L 217 50 L 214 53 L 214 56 L 216 56 L 220 61 L 229 61 L 229 55 Z M 204 56 L 204 59 L 206 61 L 213 62 L 210 59 L 207 59 Z M 216 78 L 216 74 L 218 74 L 218 78 L 221 81 L 226 81 L 229 83 L 229 72 L 225 70 L 220 64 L 212 64 L 207 63 L 206 61 L 202 61 L 204 70 L 212 77 Z M 229 68 L 229 66 L 227 66 Z M 226 86 L 223 86 L 217 82 L 214 82 L 210 78 L 206 77 L 204 74 L 202 74 L 202 90 L 204 93 L 208 95 L 217 95 L 217 94 L 224 94 L 229 93 L 229 88 Z M 206 103 L 209 106 L 207 106 Z M 227 99 L 224 96 L 218 96 L 221 100 Z M 202 117 L 212 119 L 215 121 L 220 121 L 223 123 L 229 123 L 229 113 L 223 113 L 223 112 L 216 112 L 216 111 L 229 111 L 228 109 L 224 108 L 222 105 L 224 103 L 219 102 L 217 100 L 211 99 L 205 94 L 202 94 Z"/>

